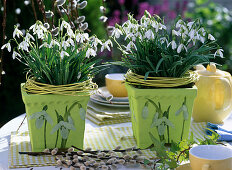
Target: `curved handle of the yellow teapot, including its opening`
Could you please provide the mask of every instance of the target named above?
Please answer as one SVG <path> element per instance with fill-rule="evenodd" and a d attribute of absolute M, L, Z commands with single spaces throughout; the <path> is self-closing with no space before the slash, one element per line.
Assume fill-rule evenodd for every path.
<path fill-rule="evenodd" d="M 217 110 L 229 109 L 232 104 L 232 89 L 231 89 L 230 81 L 226 78 L 220 78 L 216 80 L 214 88 L 215 88 L 214 91 L 215 91 L 215 102 L 216 102 L 215 108 Z"/>

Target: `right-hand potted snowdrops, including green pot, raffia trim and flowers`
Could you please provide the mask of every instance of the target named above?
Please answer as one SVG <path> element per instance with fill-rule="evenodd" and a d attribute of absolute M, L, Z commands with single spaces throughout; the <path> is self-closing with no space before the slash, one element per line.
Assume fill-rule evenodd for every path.
<path fill-rule="evenodd" d="M 159 16 L 145 11 L 139 21 L 128 15 L 111 38 L 123 55 L 114 64 L 129 68 L 126 87 L 138 147 L 152 144 L 149 133 L 166 143 L 188 138 L 198 78 L 191 69 L 223 57 L 213 35 L 199 20 L 177 18 L 166 26 Z M 119 38 L 125 44 L 119 44 Z"/>

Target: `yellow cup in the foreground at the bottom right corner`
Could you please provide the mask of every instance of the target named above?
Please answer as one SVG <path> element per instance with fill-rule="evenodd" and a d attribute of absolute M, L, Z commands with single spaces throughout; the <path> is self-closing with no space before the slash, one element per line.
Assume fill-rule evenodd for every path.
<path fill-rule="evenodd" d="M 221 145 L 199 145 L 189 151 L 192 170 L 232 170 L 232 149 Z"/>

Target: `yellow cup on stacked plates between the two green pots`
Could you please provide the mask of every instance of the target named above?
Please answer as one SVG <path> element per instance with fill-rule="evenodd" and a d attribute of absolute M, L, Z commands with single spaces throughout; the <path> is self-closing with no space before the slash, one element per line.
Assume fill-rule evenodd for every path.
<path fill-rule="evenodd" d="M 106 87 L 114 97 L 127 97 L 127 90 L 124 83 L 125 74 L 112 73 L 105 76 Z"/>

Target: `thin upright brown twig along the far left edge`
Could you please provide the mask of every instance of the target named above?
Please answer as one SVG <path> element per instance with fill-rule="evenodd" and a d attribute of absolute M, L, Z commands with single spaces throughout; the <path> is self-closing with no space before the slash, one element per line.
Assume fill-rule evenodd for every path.
<path fill-rule="evenodd" d="M 3 1 L 4 5 L 4 14 L 3 14 L 3 22 L 2 22 L 2 45 L 5 44 L 5 31 L 6 31 L 6 0 Z M 1 77 L 3 72 L 3 55 L 4 50 L 1 50 L 1 57 L 0 57 L 0 85 L 1 85 Z"/>

